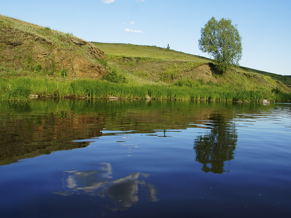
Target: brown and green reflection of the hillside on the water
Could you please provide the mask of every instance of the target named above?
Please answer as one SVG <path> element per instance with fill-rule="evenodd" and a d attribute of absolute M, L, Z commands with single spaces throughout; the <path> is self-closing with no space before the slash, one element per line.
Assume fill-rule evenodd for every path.
<path fill-rule="evenodd" d="M 0 165 L 54 151 L 82 148 L 81 141 L 106 131 L 127 131 L 154 136 L 158 131 L 211 128 L 204 124 L 213 110 L 210 102 L 173 101 L 71 101 L 36 100 L 0 104 Z M 223 119 L 233 113 L 223 112 Z M 110 133 L 112 134 L 112 133 Z M 76 141 L 79 140 L 79 141 Z"/>

